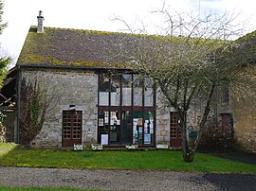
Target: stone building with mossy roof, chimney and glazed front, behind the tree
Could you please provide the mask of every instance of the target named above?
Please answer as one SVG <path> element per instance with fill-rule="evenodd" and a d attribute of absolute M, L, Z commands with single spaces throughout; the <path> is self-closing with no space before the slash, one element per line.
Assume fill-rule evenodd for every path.
<path fill-rule="evenodd" d="M 106 147 L 181 146 L 177 114 L 162 107 L 163 98 L 150 78 L 139 78 L 128 62 L 120 64 L 129 61 L 127 55 L 134 53 L 130 42 L 139 37 L 44 27 L 43 20 L 41 12 L 39 26 L 30 27 L 16 67 L 9 73 L 7 81 L 12 79 L 12 83 L 6 82 L 3 89 L 16 100 L 9 116 L 13 117 L 9 130 L 14 141 L 27 142 L 25 131 L 33 122 L 27 121 L 27 108 L 31 106 L 24 100 L 41 86 L 46 113 L 39 116 L 44 124 L 35 137 L 30 137 L 31 147 L 70 148 L 91 143 Z M 125 50 L 117 45 L 119 41 L 125 43 Z M 27 83 L 30 86 L 26 89 L 23 84 Z M 224 101 L 212 116 L 220 124 L 217 128 L 230 133 L 229 93 L 221 97 Z M 196 130 L 198 110 L 190 110 L 188 116 L 190 130 Z"/>

